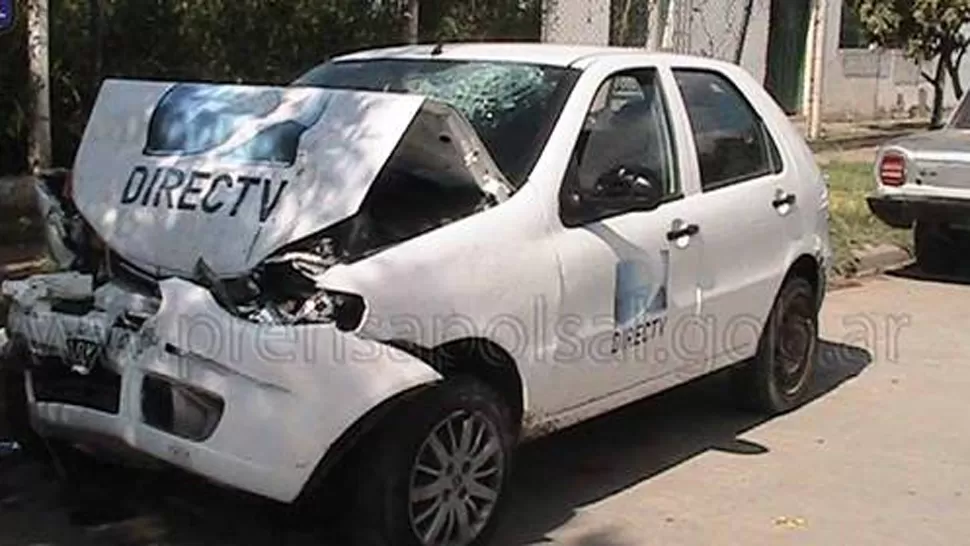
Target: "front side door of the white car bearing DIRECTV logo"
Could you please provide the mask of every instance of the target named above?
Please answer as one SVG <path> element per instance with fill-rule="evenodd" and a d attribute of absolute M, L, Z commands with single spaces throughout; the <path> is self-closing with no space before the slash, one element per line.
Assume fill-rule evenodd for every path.
<path fill-rule="evenodd" d="M 653 68 L 604 79 L 562 183 L 555 360 L 559 395 L 569 401 L 563 410 L 642 396 L 652 379 L 676 367 L 675 325 L 698 304 L 695 226 L 683 220 L 688 205 L 668 108 L 671 90 L 661 80 Z M 659 207 L 593 219 L 570 208 L 604 175 L 627 167 L 662 186 Z"/>

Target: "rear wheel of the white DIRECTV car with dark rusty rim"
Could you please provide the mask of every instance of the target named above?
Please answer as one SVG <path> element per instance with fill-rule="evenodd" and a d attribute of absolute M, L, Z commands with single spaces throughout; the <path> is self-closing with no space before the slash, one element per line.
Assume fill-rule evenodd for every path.
<path fill-rule="evenodd" d="M 818 355 L 818 307 L 811 283 L 785 281 L 753 359 L 733 370 L 738 403 L 768 415 L 788 412 L 808 396 Z"/>

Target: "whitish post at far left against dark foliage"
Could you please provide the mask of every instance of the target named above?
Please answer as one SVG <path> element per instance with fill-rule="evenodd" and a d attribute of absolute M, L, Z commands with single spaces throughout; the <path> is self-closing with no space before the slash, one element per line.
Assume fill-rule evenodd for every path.
<path fill-rule="evenodd" d="M 27 165 L 31 172 L 51 166 L 50 49 L 48 40 L 48 0 L 30 0 L 27 4 L 27 55 L 30 58 L 30 80 L 33 108 Z"/>

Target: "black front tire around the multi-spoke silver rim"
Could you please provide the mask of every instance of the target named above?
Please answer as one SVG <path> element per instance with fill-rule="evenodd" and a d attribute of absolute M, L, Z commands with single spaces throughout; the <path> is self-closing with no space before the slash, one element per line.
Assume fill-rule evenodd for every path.
<path fill-rule="evenodd" d="M 442 442 L 441 446 L 449 447 L 450 440 L 445 435 L 447 429 L 443 427 L 453 425 L 456 420 L 461 420 L 463 426 L 472 423 L 473 428 L 470 430 L 476 430 L 474 428 L 476 424 L 482 427 L 477 429 L 484 431 L 480 440 L 481 445 L 470 444 L 479 450 L 465 451 L 473 454 L 485 453 L 485 445 L 491 445 L 495 451 L 485 462 L 489 464 L 491 464 L 490 461 L 496 462 L 499 468 L 497 472 L 471 481 L 465 480 L 468 479 L 468 475 L 475 474 L 473 471 L 468 471 L 460 479 L 446 478 L 446 476 L 452 476 L 448 473 L 451 467 L 454 466 L 454 470 L 457 471 L 458 465 L 448 464 L 448 468 L 445 468 L 432 459 L 426 458 L 434 451 L 430 443 L 434 434 L 440 434 L 438 438 Z M 452 428 L 452 430 L 455 429 Z M 445 543 L 459 546 L 487 544 L 495 530 L 499 519 L 498 514 L 507 496 L 505 492 L 508 490 L 514 449 L 512 431 L 511 415 L 502 397 L 488 385 L 470 377 L 448 379 L 440 386 L 423 393 L 407 406 L 398 408 L 368 442 L 369 460 L 358 466 L 355 529 L 352 531 L 356 539 L 354 544 L 381 546 L 442 544 L 442 542 L 428 541 L 421 537 L 421 531 L 428 531 L 429 519 L 433 520 L 437 517 L 437 512 L 424 519 L 420 516 L 423 515 L 422 512 L 427 513 L 433 506 L 437 506 L 436 503 L 445 494 L 448 495 L 447 502 L 463 507 L 463 513 L 467 514 L 469 521 L 474 517 L 475 508 L 487 512 L 486 516 L 476 518 L 480 524 L 474 526 L 474 535 L 470 540 Z M 478 440 L 477 433 L 471 434 L 475 435 L 472 441 Z M 459 436 L 455 438 L 458 440 L 456 443 L 461 445 L 461 438 Z M 455 444 L 451 446 L 456 447 Z M 487 451 L 491 452 L 492 448 Z M 428 451 L 429 449 L 431 451 Z M 458 460 L 471 459 L 474 457 Z M 432 474 L 418 470 L 418 466 L 438 467 L 442 472 L 437 478 L 432 478 Z M 461 466 L 465 466 L 467 470 L 471 464 L 464 463 Z M 496 498 L 489 505 L 489 509 L 485 508 L 487 502 L 484 498 L 476 496 L 481 494 L 481 488 L 473 485 L 473 482 L 474 484 L 487 483 L 488 488 L 497 491 Z M 412 502 L 412 490 L 431 491 L 441 484 L 447 484 L 448 493 L 436 493 L 437 500 Z M 441 485 L 441 487 L 445 486 Z M 459 497 L 464 500 L 459 501 Z M 473 509 L 469 511 L 464 508 L 467 506 L 472 506 Z M 447 517 L 448 521 L 458 524 L 457 515 L 451 515 L 449 512 Z M 439 535 L 444 535 L 447 525 L 446 522 L 444 528 L 439 531 Z"/>

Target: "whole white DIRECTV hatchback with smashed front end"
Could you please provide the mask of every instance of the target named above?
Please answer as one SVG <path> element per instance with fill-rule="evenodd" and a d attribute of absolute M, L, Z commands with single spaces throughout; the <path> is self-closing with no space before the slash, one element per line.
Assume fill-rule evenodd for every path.
<path fill-rule="evenodd" d="M 62 270 L 3 284 L 15 430 L 283 503 L 349 482 L 389 544 L 484 543 L 518 443 L 715 370 L 769 413 L 809 392 L 827 190 L 734 65 L 461 44 L 110 80 L 38 195 Z"/>

